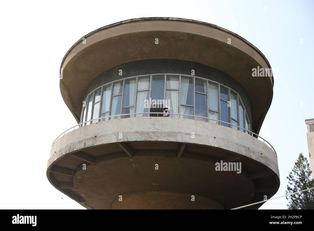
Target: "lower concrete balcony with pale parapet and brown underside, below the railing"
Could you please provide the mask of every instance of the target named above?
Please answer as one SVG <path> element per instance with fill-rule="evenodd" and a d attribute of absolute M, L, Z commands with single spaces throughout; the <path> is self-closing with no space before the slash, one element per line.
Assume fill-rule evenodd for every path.
<path fill-rule="evenodd" d="M 221 160 L 241 162 L 241 174 L 215 171 Z M 154 171 L 155 163 L 160 171 Z M 154 201 L 153 192 L 168 191 L 175 195 L 165 193 L 164 200 L 183 200 L 183 194 L 191 193 L 210 208 L 230 209 L 262 201 L 264 195 L 270 198 L 279 188 L 276 154 L 262 141 L 236 129 L 182 118 L 123 118 L 71 131 L 52 145 L 47 178 L 86 208 L 131 208 L 142 196 Z M 114 201 L 121 194 L 132 198 L 117 206 Z"/>

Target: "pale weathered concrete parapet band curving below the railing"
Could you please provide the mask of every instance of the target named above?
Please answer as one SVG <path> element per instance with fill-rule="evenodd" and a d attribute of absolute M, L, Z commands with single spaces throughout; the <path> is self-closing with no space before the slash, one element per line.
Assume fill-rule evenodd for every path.
<path fill-rule="evenodd" d="M 192 133 L 195 138 L 191 138 Z M 207 145 L 228 150 L 263 163 L 279 177 L 276 154 L 262 141 L 236 129 L 181 118 L 124 118 L 84 126 L 62 136 L 52 145 L 47 167 L 62 155 L 86 147 L 152 140 Z"/>

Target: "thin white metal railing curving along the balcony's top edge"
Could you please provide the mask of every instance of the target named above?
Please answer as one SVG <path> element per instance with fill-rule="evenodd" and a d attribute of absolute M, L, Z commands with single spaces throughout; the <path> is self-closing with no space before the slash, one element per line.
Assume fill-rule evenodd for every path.
<path fill-rule="evenodd" d="M 94 123 L 91 123 L 92 121 L 95 121 L 95 120 L 98 120 L 97 121 L 97 123 L 100 123 L 100 122 L 102 122 L 102 121 L 108 121 L 108 120 L 105 120 L 106 118 L 111 118 L 111 117 L 118 117 L 119 119 L 120 118 L 122 118 L 122 116 L 128 116 L 128 115 L 134 115 L 134 117 L 136 117 L 136 115 L 140 115 L 140 114 L 157 114 L 157 117 L 158 117 L 158 115 L 159 114 L 170 114 L 170 115 L 178 115 L 178 116 L 187 116 L 187 117 L 195 117 L 195 118 L 203 118 L 203 119 L 206 119 L 206 120 L 213 120 L 213 121 L 216 121 L 216 122 L 219 122 L 219 123 L 223 123 L 223 124 L 229 124 L 229 125 L 232 125 L 232 126 L 234 126 L 234 127 L 237 127 L 239 130 L 240 129 L 242 129 L 242 130 L 244 130 L 244 131 L 246 131 L 247 132 L 247 134 L 248 135 L 255 135 L 256 137 L 256 139 L 258 139 L 258 138 L 261 138 L 262 140 L 263 140 L 263 142 L 265 143 L 267 143 L 269 146 L 270 146 L 270 148 L 275 152 L 275 154 L 276 154 L 276 156 L 277 156 L 277 153 L 276 153 L 276 151 L 275 151 L 275 149 L 273 148 L 273 146 L 267 141 L 267 140 L 265 140 L 262 136 L 260 136 L 260 135 L 257 135 L 256 133 L 254 133 L 254 132 L 252 132 L 252 131 L 250 131 L 250 130 L 247 130 L 247 129 L 245 129 L 245 128 L 241 128 L 241 127 L 239 127 L 239 126 L 237 126 L 237 125 L 235 125 L 235 124 L 230 124 L 230 123 L 227 123 L 227 122 L 225 122 L 225 121 L 221 121 L 221 120 L 218 120 L 218 119 L 211 119 L 211 118 L 208 118 L 208 117 L 203 117 L 203 116 L 196 116 L 196 115 L 186 115 L 186 114 L 178 114 L 178 113 L 164 113 L 164 112 L 140 112 L 140 113 L 129 113 L 129 114 L 119 114 L 119 115 L 111 115 L 111 116 L 105 116 L 105 117 L 100 117 L 100 118 L 96 118 L 96 119 L 90 119 L 90 120 L 87 120 L 87 121 L 85 121 L 85 122 L 83 122 L 83 123 L 80 123 L 80 124 L 76 124 L 75 126 L 73 126 L 73 127 L 71 127 L 71 128 L 69 128 L 69 129 L 67 129 L 67 130 L 65 130 L 64 132 L 62 132 L 54 141 L 53 141 L 53 143 L 52 144 L 54 144 L 59 138 L 61 138 L 63 135 L 65 135 L 65 134 L 68 134 L 69 132 L 71 132 L 72 131 L 72 129 L 73 129 L 73 131 L 76 129 L 76 128 L 81 128 L 81 127 L 84 127 L 84 126 L 87 126 L 87 125 L 91 125 L 91 124 L 94 124 Z M 145 116 L 146 117 L 146 116 Z M 127 118 L 130 118 L 130 117 L 127 117 Z M 95 124 L 97 124 L 97 123 L 95 123 Z M 217 123 L 218 124 L 218 123 Z M 253 136 L 254 137 L 254 136 Z"/>

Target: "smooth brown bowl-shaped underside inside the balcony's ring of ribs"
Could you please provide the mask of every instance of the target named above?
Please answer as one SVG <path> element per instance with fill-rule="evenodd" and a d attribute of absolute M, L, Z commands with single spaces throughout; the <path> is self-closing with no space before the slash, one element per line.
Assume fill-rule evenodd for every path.
<path fill-rule="evenodd" d="M 86 201 L 82 205 L 92 209 L 230 209 L 252 202 L 256 188 L 243 174 L 217 172 L 210 162 L 149 155 L 132 161 L 127 157 L 112 159 L 79 171 L 73 185 Z M 117 201 L 119 195 L 122 201 Z M 196 203 L 191 204 L 192 195 Z"/>

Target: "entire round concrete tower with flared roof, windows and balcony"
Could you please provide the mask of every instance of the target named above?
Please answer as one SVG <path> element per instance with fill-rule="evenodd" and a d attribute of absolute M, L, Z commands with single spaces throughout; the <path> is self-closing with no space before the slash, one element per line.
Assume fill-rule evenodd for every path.
<path fill-rule="evenodd" d="M 244 38 L 195 20 L 130 19 L 90 32 L 61 63 L 60 91 L 78 124 L 53 142 L 47 178 L 88 209 L 269 199 L 277 155 L 258 133 L 270 68 Z"/>

